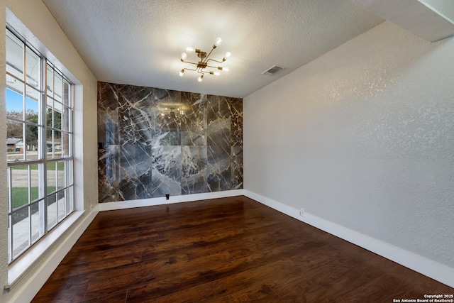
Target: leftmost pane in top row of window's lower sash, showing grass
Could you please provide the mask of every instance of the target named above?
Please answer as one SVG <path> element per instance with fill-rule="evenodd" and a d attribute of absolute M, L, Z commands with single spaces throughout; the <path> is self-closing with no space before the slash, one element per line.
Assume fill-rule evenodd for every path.
<path fill-rule="evenodd" d="M 13 209 L 28 204 L 28 165 L 11 167 L 11 202 Z"/>

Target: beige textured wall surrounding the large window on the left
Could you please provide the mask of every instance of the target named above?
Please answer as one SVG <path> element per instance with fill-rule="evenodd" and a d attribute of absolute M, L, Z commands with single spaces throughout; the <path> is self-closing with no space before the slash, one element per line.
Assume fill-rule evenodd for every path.
<path fill-rule="evenodd" d="M 14 15 L 42 42 L 48 50 L 55 55 L 58 60 L 67 67 L 67 70 L 79 81 L 77 89 L 83 94 L 83 103 L 78 103 L 75 107 L 75 119 L 77 124 L 77 153 L 75 178 L 77 183 L 76 195 L 77 202 L 82 202 L 85 209 L 92 209 L 98 202 L 97 187 L 97 149 L 96 149 L 96 79 L 92 72 L 85 65 L 82 58 L 62 32 L 60 26 L 50 15 L 43 2 L 38 0 L 0 0 L 0 23 L 5 24 L 5 10 L 8 7 Z M 0 35 L 0 69 L 5 70 L 5 35 Z M 49 54 L 45 54 L 49 55 Z M 5 91 L 5 77 L 0 77 L 0 90 Z M 0 123 L 5 125 L 4 114 L 4 94 L 0 95 Z M 6 129 L 1 128 L 0 141 L 6 141 Z M 6 150 L 0 150 L 0 302 L 7 302 L 15 295 L 15 291 L 20 289 L 19 285 L 14 285 L 10 293 L 3 292 L 3 285 L 7 282 L 7 205 L 6 205 Z M 30 272 L 28 276 L 32 276 Z"/>

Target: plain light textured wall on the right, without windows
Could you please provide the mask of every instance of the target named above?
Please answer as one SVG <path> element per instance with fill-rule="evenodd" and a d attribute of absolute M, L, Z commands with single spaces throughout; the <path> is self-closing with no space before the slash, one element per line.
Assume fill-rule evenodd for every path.
<path fill-rule="evenodd" d="M 250 94 L 245 189 L 454 267 L 453 54 L 384 22 Z"/>

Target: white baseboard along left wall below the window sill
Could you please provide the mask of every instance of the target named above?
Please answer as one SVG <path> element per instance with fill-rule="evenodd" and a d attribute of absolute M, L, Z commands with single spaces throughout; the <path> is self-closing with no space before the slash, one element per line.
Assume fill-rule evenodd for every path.
<path fill-rule="evenodd" d="M 10 293 L 6 296 L 8 302 L 31 302 L 50 275 L 52 275 L 55 268 L 57 268 L 63 258 L 65 258 L 65 255 L 70 251 L 72 246 L 74 246 L 80 236 L 82 236 L 82 233 L 84 233 L 85 229 L 87 229 L 89 224 L 93 221 L 96 214 L 98 214 L 98 211 L 98 206 L 96 206 L 87 216 L 84 216 L 81 221 L 77 221 L 76 219 L 76 221 L 74 221 L 75 226 L 70 233 L 65 233 L 65 237 L 60 238 L 60 242 L 57 241 L 55 245 L 52 245 L 52 248 L 49 249 L 48 253 L 45 253 L 43 257 L 37 261 L 37 264 L 33 267 L 33 273 L 28 276 L 26 272 L 24 277 L 18 277 L 17 280 L 13 282 Z"/>

